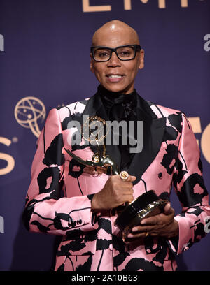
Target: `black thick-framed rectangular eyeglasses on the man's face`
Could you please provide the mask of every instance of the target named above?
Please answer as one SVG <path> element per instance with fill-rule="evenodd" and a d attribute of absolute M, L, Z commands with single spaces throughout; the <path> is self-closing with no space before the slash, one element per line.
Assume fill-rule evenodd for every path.
<path fill-rule="evenodd" d="M 92 58 L 98 62 L 109 61 L 113 52 L 117 54 L 120 60 L 132 60 L 136 57 L 139 50 L 141 50 L 141 45 L 120 45 L 116 48 L 103 46 L 90 47 Z"/>

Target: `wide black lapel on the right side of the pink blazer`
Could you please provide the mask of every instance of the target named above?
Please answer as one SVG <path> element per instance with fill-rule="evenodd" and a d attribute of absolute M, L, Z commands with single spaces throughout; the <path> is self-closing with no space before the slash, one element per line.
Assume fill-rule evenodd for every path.
<path fill-rule="evenodd" d="M 157 156 L 165 133 L 166 118 L 158 118 L 148 102 L 137 96 L 137 117 L 143 121 L 143 149 L 134 155 L 128 173 L 137 177 L 134 184 L 141 180 L 148 166 Z"/>

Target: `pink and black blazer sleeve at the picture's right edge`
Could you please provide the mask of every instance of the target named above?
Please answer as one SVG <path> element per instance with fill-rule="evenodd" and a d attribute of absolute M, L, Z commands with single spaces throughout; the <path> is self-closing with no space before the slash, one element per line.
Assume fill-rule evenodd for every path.
<path fill-rule="evenodd" d="M 202 177 L 200 149 L 186 115 L 182 114 L 179 155 L 173 174 L 173 184 L 182 206 L 174 219 L 179 223 L 179 239 L 169 240 L 174 254 L 189 249 L 207 235 L 210 219 L 209 195 Z"/>

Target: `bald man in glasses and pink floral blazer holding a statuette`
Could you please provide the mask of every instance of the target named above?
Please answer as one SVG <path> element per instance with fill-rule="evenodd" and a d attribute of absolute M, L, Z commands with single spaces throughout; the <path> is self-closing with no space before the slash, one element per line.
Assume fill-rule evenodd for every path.
<path fill-rule="evenodd" d="M 29 231 L 63 236 L 55 270 L 176 270 L 176 255 L 206 235 L 204 225 L 210 214 L 190 123 L 179 110 L 137 94 L 134 82 L 144 68 L 144 50 L 132 27 L 118 20 L 104 24 L 92 37 L 90 58 L 90 70 L 99 81 L 97 93 L 52 109 L 38 138 L 25 226 Z M 85 139 L 73 143 L 81 131 L 74 123 L 83 124 L 87 115 L 128 126 L 127 144 L 123 131 L 113 133 L 118 145 L 106 144 L 106 154 L 119 171 L 129 174 L 126 181 L 66 153 L 69 149 L 83 161 L 92 161 L 99 152 L 97 145 Z M 134 122 L 132 128 L 130 122 Z M 138 122 L 143 122 L 143 148 L 131 152 L 133 142 L 138 145 Z M 115 224 L 117 209 L 151 189 L 169 200 L 172 183 L 183 212 L 174 217 L 167 203 L 160 214 L 132 228 L 124 240 Z"/>

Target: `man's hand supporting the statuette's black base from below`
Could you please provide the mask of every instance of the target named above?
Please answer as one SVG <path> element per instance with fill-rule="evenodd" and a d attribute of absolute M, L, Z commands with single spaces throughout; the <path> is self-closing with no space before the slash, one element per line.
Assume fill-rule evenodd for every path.
<path fill-rule="evenodd" d="M 132 228 L 131 233 L 127 235 L 127 242 L 132 242 L 139 238 L 145 238 L 146 235 L 155 237 L 173 238 L 179 235 L 179 224 L 174 219 L 174 209 L 170 203 L 164 207 L 164 212 L 153 217 L 143 219 L 139 226 Z"/>

